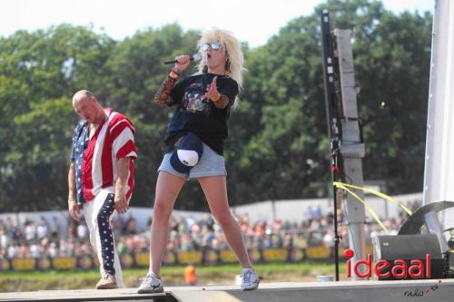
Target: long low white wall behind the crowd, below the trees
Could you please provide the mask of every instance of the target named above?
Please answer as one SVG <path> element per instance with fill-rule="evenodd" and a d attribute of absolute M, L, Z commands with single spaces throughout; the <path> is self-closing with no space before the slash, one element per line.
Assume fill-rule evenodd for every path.
<path fill-rule="evenodd" d="M 405 206 L 410 206 L 410 204 L 414 202 L 420 205 L 422 193 L 395 195 L 392 196 L 392 198 Z M 356 202 L 360 204 L 360 201 Z M 397 204 L 373 195 L 366 195 L 366 202 L 382 220 L 396 218 L 401 211 Z M 332 200 L 328 198 L 308 200 L 264 200 L 232 207 L 232 212 L 235 215 L 241 217 L 247 216 L 251 223 L 262 220 L 271 221 L 274 219 L 301 223 L 302 221 L 309 219 L 311 213 L 317 211 L 320 211 L 321 215 L 324 217 L 329 213 L 332 213 Z M 117 214 L 115 213 L 114 215 Z M 123 219 L 126 220 L 130 216 L 133 216 L 133 218 L 136 219 L 137 230 L 139 232 L 147 231 L 148 221 L 153 216 L 153 208 L 131 207 L 128 212 L 123 215 Z M 193 220 L 209 219 L 212 217 L 210 212 L 178 209 L 173 210 L 172 216 L 175 219 L 190 218 Z M 5 223 L 8 219 L 11 219 L 13 225 L 24 225 L 26 220 L 37 222 L 41 218 L 46 219 L 49 223 L 52 223 L 54 219 L 57 219 L 61 235 L 66 233 L 68 220 L 71 220 L 66 209 L 39 212 L 0 213 L 0 221 Z M 366 219 L 370 222 L 375 222 L 368 211 L 366 211 Z"/>

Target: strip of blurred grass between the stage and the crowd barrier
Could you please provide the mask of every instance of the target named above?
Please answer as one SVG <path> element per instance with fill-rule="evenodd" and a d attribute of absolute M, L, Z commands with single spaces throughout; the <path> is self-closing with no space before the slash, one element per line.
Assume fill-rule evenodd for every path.
<path fill-rule="evenodd" d="M 183 286 L 183 266 L 163 267 L 161 275 L 166 286 Z M 316 276 L 334 276 L 334 264 L 326 262 L 267 263 L 254 268 L 262 282 L 316 281 Z M 340 277 L 345 279 L 345 263 L 341 263 Z M 145 268 L 123 270 L 125 287 L 137 287 Z M 241 273 L 238 265 L 196 267 L 199 285 L 232 285 L 235 276 Z M 97 270 L 49 271 L 49 272 L 2 272 L 0 292 L 34 291 L 50 289 L 94 288 L 100 278 Z"/>

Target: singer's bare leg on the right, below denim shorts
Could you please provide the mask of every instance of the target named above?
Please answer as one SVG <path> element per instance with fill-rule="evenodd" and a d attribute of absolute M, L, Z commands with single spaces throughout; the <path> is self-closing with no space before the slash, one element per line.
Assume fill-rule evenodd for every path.
<path fill-rule="evenodd" d="M 206 200 L 212 215 L 218 220 L 224 232 L 225 239 L 229 242 L 236 257 L 243 268 L 252 268 L 240 225 L 232 216 L 227 199 L 227 186 L 225 176 L 212 176 L 199 178 L 199 183 L 205 193 Z"/>

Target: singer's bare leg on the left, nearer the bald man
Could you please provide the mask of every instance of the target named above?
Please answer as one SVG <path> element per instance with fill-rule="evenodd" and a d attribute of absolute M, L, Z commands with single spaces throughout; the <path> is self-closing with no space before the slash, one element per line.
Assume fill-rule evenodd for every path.
<path fill-rule="evenodd" d="M 156 198 L 153 207 L 152 241 L 150 248 L 150 272 L 159 275 L 165 247 L 167 246 L 169 219 L 173 204 L 183 188 L 184 179 L 161 171 L 156 182 Z"/>

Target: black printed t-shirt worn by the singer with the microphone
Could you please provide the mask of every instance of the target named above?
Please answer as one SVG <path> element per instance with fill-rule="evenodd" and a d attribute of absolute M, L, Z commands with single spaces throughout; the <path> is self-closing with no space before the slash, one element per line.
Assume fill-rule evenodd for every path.
<path fill-rule="evenodd" d="M 229 105 L 218 109 L 209 99 L 203 99 L 207 87 L 216 76 L 213 73 L 202 73 L 189 76 L 173 86 L 169 106 L 178 105 L 172 121 L 167 127 L 164 142 L 165 151 L 171 151 L 173 144 L 187 132 L 194 132 L 213 151 L 222 155 L 223 141 L 228 137 L 227 119 L 230 107 L 238 94 L 238 83 L 229 76 L 217 75 L 219 93 L 229 98 Z"/>

